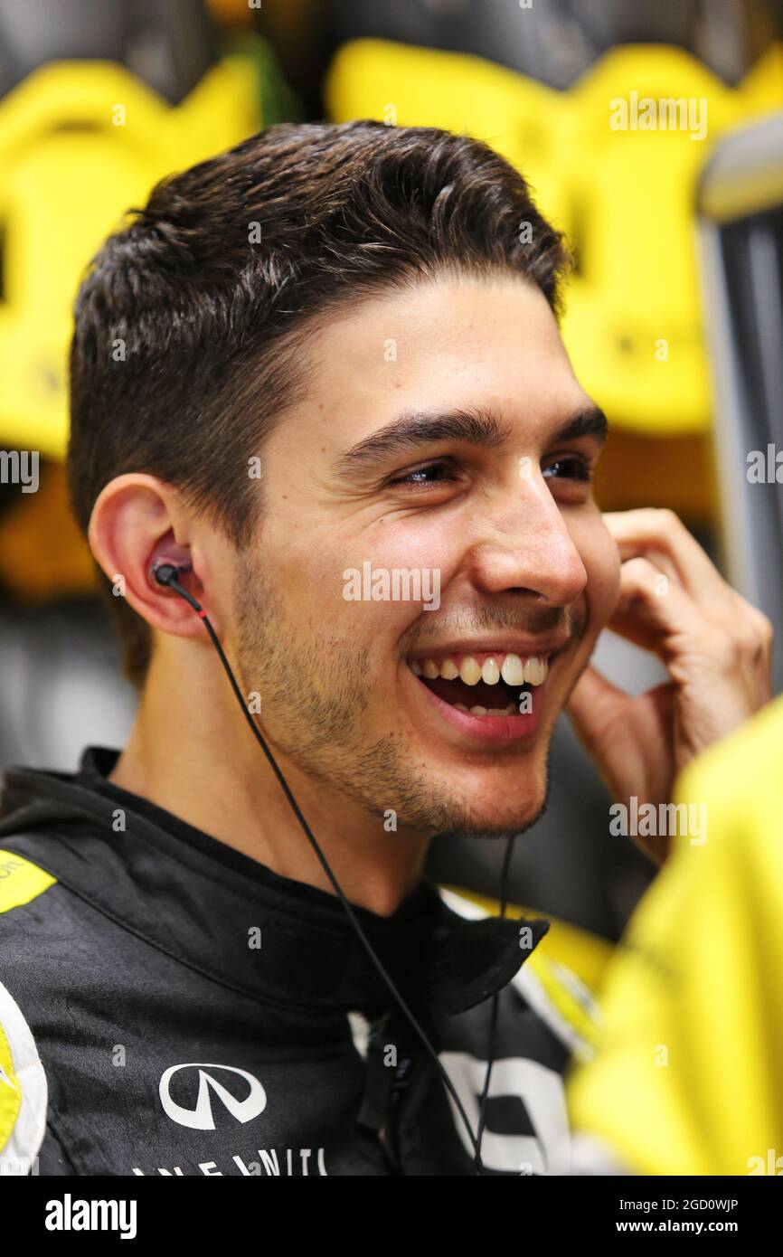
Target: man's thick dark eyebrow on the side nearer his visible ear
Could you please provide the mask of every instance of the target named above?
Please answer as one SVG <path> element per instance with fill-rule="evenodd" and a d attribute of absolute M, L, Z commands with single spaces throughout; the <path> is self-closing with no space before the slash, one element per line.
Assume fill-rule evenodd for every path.
<path fill-rule="evenodd" d="M 509 436 L 510 429 L 481 407 L 397 415 L 385 427 L 342 454 L 334 464 L 334 470 L 339 475 L 348 475 L 391 455 L 410 453 L 419 445 L 435 441 L 468 441 L 470 445 L 481 445 L 491 450 L 503 445 Z"/>

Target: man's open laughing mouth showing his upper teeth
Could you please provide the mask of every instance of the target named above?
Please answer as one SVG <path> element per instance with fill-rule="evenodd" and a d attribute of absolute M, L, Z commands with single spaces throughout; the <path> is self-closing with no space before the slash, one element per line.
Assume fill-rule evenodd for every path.
<path fill-rule="evenodd" d="M 444 703 L 470 715 L 491 718 L 519 715 L 522 695 L 532 694 L 547 680 L 549 657 L 481 651 L 430 655 L 408 660 L 408 667 Z"/>

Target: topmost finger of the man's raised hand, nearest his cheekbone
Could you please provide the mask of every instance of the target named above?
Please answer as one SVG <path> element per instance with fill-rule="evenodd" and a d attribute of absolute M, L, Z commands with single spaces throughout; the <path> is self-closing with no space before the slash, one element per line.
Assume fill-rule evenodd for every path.
<path fill-rule="evenodd" d="M 603 520 L 622 559 L 649 558 L 659 563 L 711 617 L 731 612 L 734 591 L 674 510 L 608 512 Z"/>

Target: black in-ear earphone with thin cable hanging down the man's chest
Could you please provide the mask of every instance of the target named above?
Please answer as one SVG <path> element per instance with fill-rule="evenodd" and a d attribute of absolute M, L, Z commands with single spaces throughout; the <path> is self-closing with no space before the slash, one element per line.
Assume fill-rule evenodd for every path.
<path fill-rule="evenodd" d="M 253 733 L 253 737 L 256 739 L 256 742 L 260 745 L 261 750 L 266 755 L 266 759 L 269 760 L 269 764 L 270 764 L 270 767 L 271 767 L 275 777 L 278 778 L 278 782 L 280 783 L 280 787 L 283 788 L 283 792 L 284 792 L 284 794 L 285 794 L 285 797 L 287 797 L 287 799 L 288 799 L 288 802 L 289 802 L 289 804 L 290 804 L 290 807 L 292 807 L 292 810 L 294 812 L 294 816 L 297 817 L 297 821 L 299 822 L 299 826 L 302 827 L 305 838 L 308 840 L 308 842 L 313 847 L 313 851 L 315 852 L 315 856 L 318 857 L 318 861 L 319 861 L 323 871 L 326 872 L 327 877 L 329 879 L 329 882 L 332 884 L 334 894 L 337 895 L 337 897 L 339 899 L 339 901 L 341 901 L 344 911 L 347 913 L 348 920 L 351 921 L 351 924 L 352 924 L 352 926 L 353 926 L 353 929 L 354 929 L 354 931 L 356 931 L 356 934 L 357 934 L 357 936 L 358 936 L 362 947 L 364 948 L 364 950 L 367 952 L 367 955 L 370 957 L 370 959 L 372 960 L 373 965 L 376 967 L 376 969 L 381 974 L 383 982 L 386 983 L 387 989 L 391 992 L 391 994 L 395 998 L 397 1006 L 401 1008 L 401 1011 L 403 1012 L 403 1014 L 407 1017 L 410 1024 L 413 1027 L 413 1029 L 419 1035 L 421 1042 L 424 1043 L 424 1046 L 426 1047 L 427 1052 L 432 1057 L 432 1060 L 434 1060 L 434 1062 L 435 1062 L 435 1065 L 436 1065 L 436 1067 L 437 1067 L 437 1070 L 440 1072 L 440 1076 L 442 1077 L 444 1085 L 445 1085 L 446 1090 L 449 1091 L 449 1095 L 451 1096 L 451 1099 L 452 1099 L 452 1101 L 454 1101 L 454 1104 L 456 1106 L 457 1112 L 460 1114 L 460 1117 L 461 1117 L 461 1120 L 463 1120 L 463 1123 L 465 1125 L 465 1130 L 468 1131 L 468 1138 L 470 1140 L 470 1145 L 471 1145 L 471 1148 L 474 1150 L 474 1154 L 475 1154 L 475 1170 L 476 1170 L 476 1174 L 485 1174 L 486 1170 L 484 1169 L 484 1163 L 481 1161 L 481 1139 L 483 1139 L 483 1135 L 484 1135 L 484 1121 L 485 1121 L 485 1111 L 486 1111 L 486 1100 L 488 1100 L 488 1096 L 489 1096 L 489 1080 L 490 1080 L 490 1073 L 491 1073 L 491 1067 L 493 1067 L 493 1057 L 494 1057 L 495 1027 L 496 1027 L 496 1021 L 498 1021 L 498 994 L 495 993 L 493 996 L 493 1008 L 491 1008 L 491 1019 L 490 1019 L 490 1043 L 489 1043 L 489 1052 L 488 1052 L 488 1061 L 486 1061 L 486 1075 L 485 1075 L 485 1080 L 484 1080 L 484 1089 L 483 1089 L 481 1102 L 480 1102 L 479 1129 L 478 1129 L 476 1135 L 474 1135 L 474 1133 L 471 1130 L 471 1126 L 470 1126 L 470 1121 L 468 1120 L 468 1114 L 465 1112 L 463 1102 L 461 1102 L 459 1095 L 456 1094 L 456 1091 L 454 1089 L 454 1085 L 451 1082 L 451 1079 L 446 1073 L 446 1070 L 444 1068 L 444 1066 L 442 1066 L 442 1063 L 441 1063 L 441 1061 L 440 1061 L 440 1058 L 437 1056 L 437 1052 L 435 1051 L 432 1043 L 430 1042 L 426 1032 L 424 1031 L 424 1028 L 421 1027 L 421 1024 L 416 1019 L 415 1014 L 411 1012 L 411 1009 L 408 1008 L 407 1003 L 405 1002 L 405 999 L 402 998 L 402 996 L 397 991 L 397 988 L 396 988 L 395 983 L 392 982 L 390 974 L 386 972 L 386 969 L 385 969 L 381 959 L 376 955 L 376 953 L 375 953 L 375 950 L 372 948 L 372 944 L 370 943 L 370 939 L 364 934 L 364 930 L 362 929 L 362 926 L 361 926 L 361 924 L 359 924 L 359 921 L 358 921 L 358 919 L 356 916 L 356 913 L 353 911 L 353 909 L 352 909 L 351 904 L 348 903 L 346 895 L 343 894 L 342 887 L 339 886 L 339 884 L 338 884 L 334 874 L 332 872 L 329 865 L 327 864 L 327 859 L 326 859 L 324 854 L 322 852 L 320 847 L 318 846 L 318 842 L 315 841 L 315 836 L 313 835 L 309 825 L 307 823 L 307 821 L 305 821 L 305 818 L 304 818 L 304 816 L 303 816 L 303 813 L 302 813 L 302 811 L 299 808 L 299 804 L 297 803 L 297 799 L 294 798 L 294 796 L 293 796 L 293 793 L 292 793 L 292 791 L 290 791 L 290 788 L 288 786 L 288 782 L 285 781 L 283 773 L 280 772 L 274 755 L 271 754 L 269 747 L 266 745 L 266 742 L 264 740 L 261 733 L 259 732 L 259 729 L 258 729 L 258 727 L 255 724 L 255 720 L 253 719 L 250 711 L 248 710 L 248 705 L 246 705 L 246 703 L 245 703 L 245 700 L 244 700 L 244 698 L 241 695 L 241 690 L 240 690 L 239 685 L 236 684 L 236 678 L 234 676 L 234 671 L 231 669 L 231 665 L 229 664 L 229 660 L 225 656 L 222 646 L 220 645 L 220 641 L 217 639 L 217 634 L 215 632 L 212 625 L 210 623 L 210 620 L 209 620 L 209 616 L 207 616 L 206 611 L 204 610 L 204 607 L 201 606 L 201 603 L 196 598 L 194 598 L 192 593 L 190 593 L 181 585 L 180 577 L 183 576 L 186 572 L 190 572 L 190 571 L 191 571 L 191 567 L 190 567 L 189 563 L 187 564 L 185 564 L 185 563 L 176 564 L 176 563 L 170 563 L 166 559 L 162 559 L 162 561 L 160 561 L 158 563 L 156 563 L 153 566 L 153 568 L 152 568 L 152 576 L 155 577 L 155 579 L 157 581 L 158 585 L 162 585 L 166 588 L 173 590 L 173 592 L 177 593 L 181 598 L 185 598 L 185 601 L 194 608 L 194 611 L 196 612 L 196 615 L 199 616 L 199 618 L 204 621 L 206 631 L 209 632 L 209 635 L 210 635 L 210 637 L 212 640 L 212 645 L 215 646 L 215 650 L 217 651 L 217 655 L 220 657 L 220 662 L 222 664 L 225 674 L 229 678 L 229 681 L 231 684 L 231 689 L 234 690 L 234 694 L 236 695 L 236 700 L 238 700 L 239 705 L 243 709 L 243 714 L 244 714 L 248 724 L 250 725 L 250 730 Z M 504 861 L 503 861 L 501 892 L 500 892 L 501 894 L 501 897 L 500 897 L 500 915 L 501 916 L 505 915 L 505 885 L 506 885 L 506 879 L 508 879 L 508 870 L 509 870 L 509 864 L 510 864 L 510 856 L 512 856 L 512 847 L 513 847 L 513 843 L 514 843 L 514 837 L 515 836 L 512 836 L 510 838 L 506 840 L 508 845 L 506 845 L 505 856 L 504 856 Z"/>

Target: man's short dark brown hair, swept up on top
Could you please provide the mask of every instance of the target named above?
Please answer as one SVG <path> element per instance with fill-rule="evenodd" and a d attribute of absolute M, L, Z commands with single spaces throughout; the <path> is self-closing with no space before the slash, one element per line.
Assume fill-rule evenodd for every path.
<path fill-rule="evenodd" d="M 512 272 L 558 317 L 568 261 L 522 175 L 434 127 L 283 123 L 162 180 L 77 297 L 77 522 L 87 533 L 104 485 L 146 471 L 241 548 L 263 502 L 249 460 L 303 396 L 304 347 L 323 316 L 417 278 Z M 150 627 L 123 597 L 109 605 L 124 672 L 142 686 Z"/>

